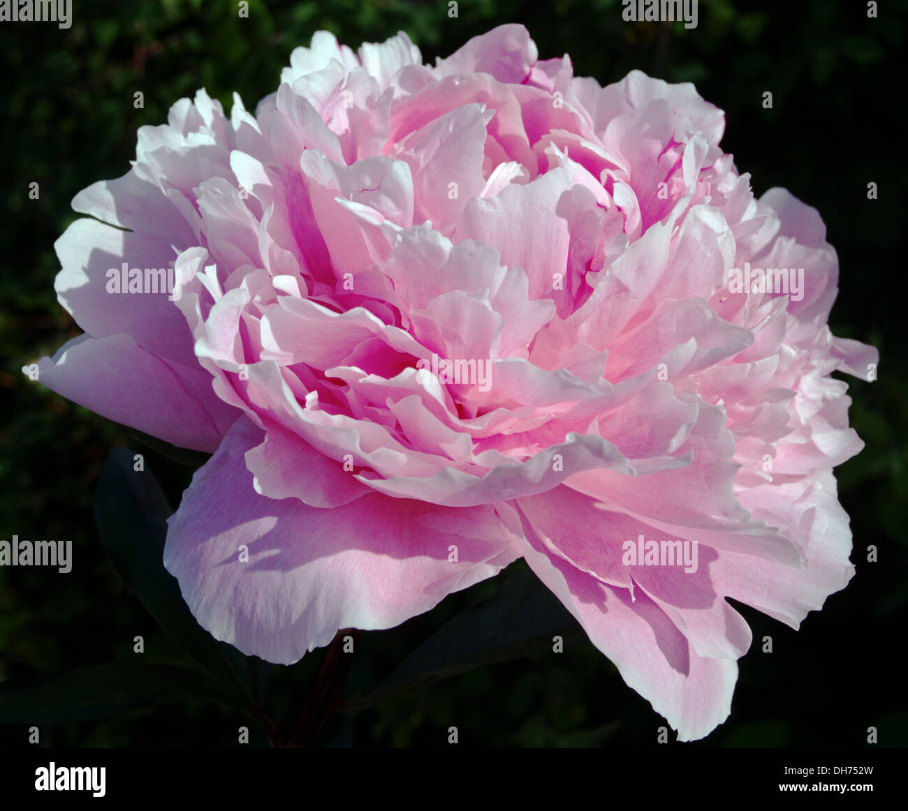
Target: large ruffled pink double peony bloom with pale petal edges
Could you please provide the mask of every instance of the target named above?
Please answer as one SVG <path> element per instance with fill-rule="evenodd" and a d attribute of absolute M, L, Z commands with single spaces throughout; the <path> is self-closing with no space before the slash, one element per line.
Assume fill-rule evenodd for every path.
<path fill-rule="evenodd" d="M 877 359 L 827 327 L 816 210 L 755 199 L 723 128 L 519 25 L 434 67 L 320 32 L 254 116 L 200 91 L 75 197 L 84 335 L 40 379 L 213 453 L 164 563 L 217 639 L 290 663 L 523 557 L 702 738 L 751 642 L 725 597 L 797 628 L 854 573 L 830 373 Z"/>

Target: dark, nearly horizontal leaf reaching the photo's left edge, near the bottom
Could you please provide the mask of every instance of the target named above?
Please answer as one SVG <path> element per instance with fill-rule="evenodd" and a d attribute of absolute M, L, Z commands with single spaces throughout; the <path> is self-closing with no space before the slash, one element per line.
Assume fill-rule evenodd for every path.
<path fill-rule="evenodd" d="M 224 700 L 208 677 L 172 665 L 113 661 L 37 682 L 0 684 L 0 723 L 106 718 L 186 699 Z"/>

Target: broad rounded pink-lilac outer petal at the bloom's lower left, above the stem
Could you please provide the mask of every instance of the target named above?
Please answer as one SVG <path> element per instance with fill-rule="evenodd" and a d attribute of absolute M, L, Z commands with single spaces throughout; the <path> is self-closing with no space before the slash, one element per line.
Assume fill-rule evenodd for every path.
<path fill-rule="evenodd" d="M 265 498 L 243 458 L 261 442 L 248 419 L 236 422 L 193 477 L 164 549 L 202 627 L 243 653 L 290 664 L 341 628 L 391 628 L 429 611 L 518 557 L 492 506 L 370 494 L 321 510 Z"/>

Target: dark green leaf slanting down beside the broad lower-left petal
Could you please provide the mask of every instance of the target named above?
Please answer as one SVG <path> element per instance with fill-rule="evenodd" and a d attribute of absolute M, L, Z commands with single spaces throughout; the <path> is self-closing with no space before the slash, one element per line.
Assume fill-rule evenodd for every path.
<path fill-rule="evenodd" d="M 192 616 L 180 586 L 164 569 L 167 518 L 173 513 L 147 464 L 133 470 L 133 452 L 114 448 L 94 493 L 94 515 L 104 549 L 126 588 L 164 632 L 224 684 L 249 692 L 245 657 L 218 642 Z"/>

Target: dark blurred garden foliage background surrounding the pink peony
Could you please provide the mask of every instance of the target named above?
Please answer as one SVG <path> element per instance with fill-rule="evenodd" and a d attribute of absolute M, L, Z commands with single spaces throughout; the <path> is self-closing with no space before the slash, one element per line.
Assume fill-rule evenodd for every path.
<path fill-rule="evenodd" d="M 134 158 L 135 131 L 166 122 L 171 104 L 205 87 L 229 112 L 232 92 L 246 107 L 276 89 L 293 47 L 329 29 L 354 50 L 405 30 L 434 63 L 495 25 L 526 24 L 540 58 L 568 52 L 575 74 L 606 84 L 639 68 L 671 82 L 692 81 L 725 110 L 725 151 L 752 174 L 757 195 L 784 186 L 818 208 L 838 251 L 840 296 L 834 334 L 880 349 L 879 380 L 847 378 L 851 424 L 862 454 L 837 468 L 854 531 L 857 574 L 808 616 L 799 632 L 738 605 L 754 631 L 740 660 L 732 715 L 692 747 L 854 747 L 866 729 L 879 746 L 908 742 L 904 700 L 905 376 L 903 173 L 905 74 L 899 56 L 905 8 L 883 2 L 868 19 L 864 2 L 760 3 L 701 0 L 699 25 L 627 24 L 617 0 L 528 5 L 329 0 L 74 2 L 69 30 L 0 23 L 4 117 L 0 160 L 0 537 L 69 539 L 74 569 L 0 569 L 0 681 L 41 679 L 112 660 L 134 660 L 145 638 L 149 662 L 183 662 L 124 588 L 99 542 L 93 493 L 110 449 L 145 454 L 170 502 L 179 503 L 192 468 L 135 445 L 102 417 L 31 383 L 19 371 L 53 355 L 80 330 L 54 296 L 53 243 L 75 219 L 70 200 L 97 180 L 119 177 Z M 133 109 L 143 91 L 145 107 Z M 771 91 L 774 108 L 762 94 Z M 28 184 L 40 183 L 40 199 Z M 879 199 L 866 186 L 879 184 Z M 875 544 L 879 562 L 866 562 Z M 496 593 L 522 562 L 498 578 L 443 601 L 397 629 L 364 634 L 350 690 L 369 689 L 459 611 Z M 775 652 L 761 652 L 770 634 Z M 324 657 L 271 668 L 296 697 L 311 689 Z M 0 702 L 2 703 L 2 702 Z M 108 718 L 41 725 L 43 746 L 221 747 L 236 745 L 248 721 L 222 703 L 194 698 Z M 627 688 L 585 637 L 562 654 L 518 660 L 412 689 L 326 727 L 322 744 L 445 746 L 447 728 L 480 747 L 651 746 L 664 725 Z M 0 744 L 25 745 L 28 723 L 0 725 Z M 674 734 L 671 739 L 674 739 Z M 252 727 L 252 744 L 266 745 Z M 673 744 L 674 745 L 674 744 Z"/>

